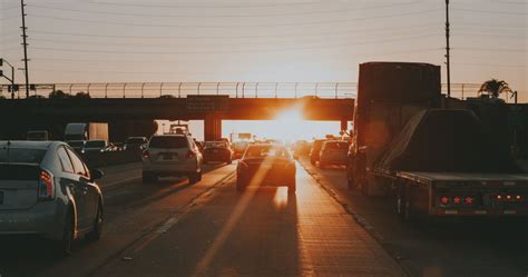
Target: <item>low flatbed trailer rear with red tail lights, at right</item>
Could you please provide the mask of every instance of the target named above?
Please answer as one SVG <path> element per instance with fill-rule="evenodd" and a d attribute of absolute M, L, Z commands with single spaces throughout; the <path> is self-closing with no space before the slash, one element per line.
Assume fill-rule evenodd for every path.
<path fill-rule="evenodd" d="M 397 171 L 397 211 L 417 216 L 528 216 L 528 175 Z"/>

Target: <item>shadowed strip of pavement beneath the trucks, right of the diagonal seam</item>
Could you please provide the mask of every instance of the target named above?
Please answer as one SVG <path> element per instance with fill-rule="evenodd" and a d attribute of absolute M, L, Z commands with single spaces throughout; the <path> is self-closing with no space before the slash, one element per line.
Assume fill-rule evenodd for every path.
<path fill-rule="evenodd" d="M 411 276 L 528 276 L 527 220 L 401 222 L 392 197 L 351 191 L 344 168 L 301 164 Z"/>

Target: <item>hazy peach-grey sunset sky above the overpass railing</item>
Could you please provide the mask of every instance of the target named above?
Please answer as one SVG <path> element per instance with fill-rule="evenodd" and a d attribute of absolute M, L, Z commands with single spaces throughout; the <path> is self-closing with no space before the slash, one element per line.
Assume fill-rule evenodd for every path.
<path fill-rule="evenodd" d="M 22 67 L 20 2 L 0 3 L 0 56 Z M 364 61 L 444 61 L 443 0 L 27 4 L 31 82 L 356 81 Z M 526 0 L 451 0 L 452 82 L 495 77 L 528 101 L 527 26 Z"/>

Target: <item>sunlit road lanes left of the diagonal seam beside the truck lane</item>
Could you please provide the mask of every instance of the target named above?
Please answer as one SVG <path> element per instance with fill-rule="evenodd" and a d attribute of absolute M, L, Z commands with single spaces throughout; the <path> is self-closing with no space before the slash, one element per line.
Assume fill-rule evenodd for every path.
<path fill-rule="evenodd" d="M 203 181 L 140 184 L 140 167 L 107 169 L 101 240 L 49 256 L 45 243 L 0 246 L 10 276 L 403 276 L 387 251 L 297 166 L 297 194 L 237 194 L 232 166 Z"/>

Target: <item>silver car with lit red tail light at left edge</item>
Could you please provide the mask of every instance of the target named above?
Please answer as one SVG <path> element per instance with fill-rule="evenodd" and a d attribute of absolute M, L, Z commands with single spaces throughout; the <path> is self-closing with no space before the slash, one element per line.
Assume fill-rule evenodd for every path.
<path fill-rule="evenodd" d="M 79 155 L 60 141 L 0 141 L 0 236 L 37 235 L 69 254 L 102 231 L 102 195 Z"/>

